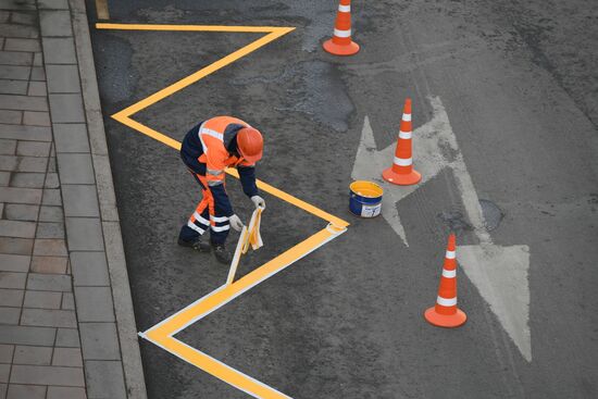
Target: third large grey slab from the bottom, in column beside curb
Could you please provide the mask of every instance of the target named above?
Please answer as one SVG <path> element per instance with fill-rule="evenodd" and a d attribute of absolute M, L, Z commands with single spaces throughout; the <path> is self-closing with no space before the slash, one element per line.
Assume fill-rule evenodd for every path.
<path fill-rule="evenodd" d="M 114 322 L 114 306 L 110 287 L 75 286 L 77 315 L 84 322 Z"/>

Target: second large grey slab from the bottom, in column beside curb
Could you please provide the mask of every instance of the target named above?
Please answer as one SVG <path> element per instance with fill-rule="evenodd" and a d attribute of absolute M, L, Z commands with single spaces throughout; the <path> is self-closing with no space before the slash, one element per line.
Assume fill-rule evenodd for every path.
<path fill-rule="evenodd" d="M 119 336 L 114 323 L 79 323 L 85 360 L 120 360 Z"/>

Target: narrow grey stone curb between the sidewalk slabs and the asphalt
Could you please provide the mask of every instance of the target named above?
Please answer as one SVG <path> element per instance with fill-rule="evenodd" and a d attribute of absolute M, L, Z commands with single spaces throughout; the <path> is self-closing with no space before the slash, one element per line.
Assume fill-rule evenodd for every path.
<path fill-rule="evenodd" d="M 147 399 L 85 0 L 68 0 L 127 397 Z"/>

